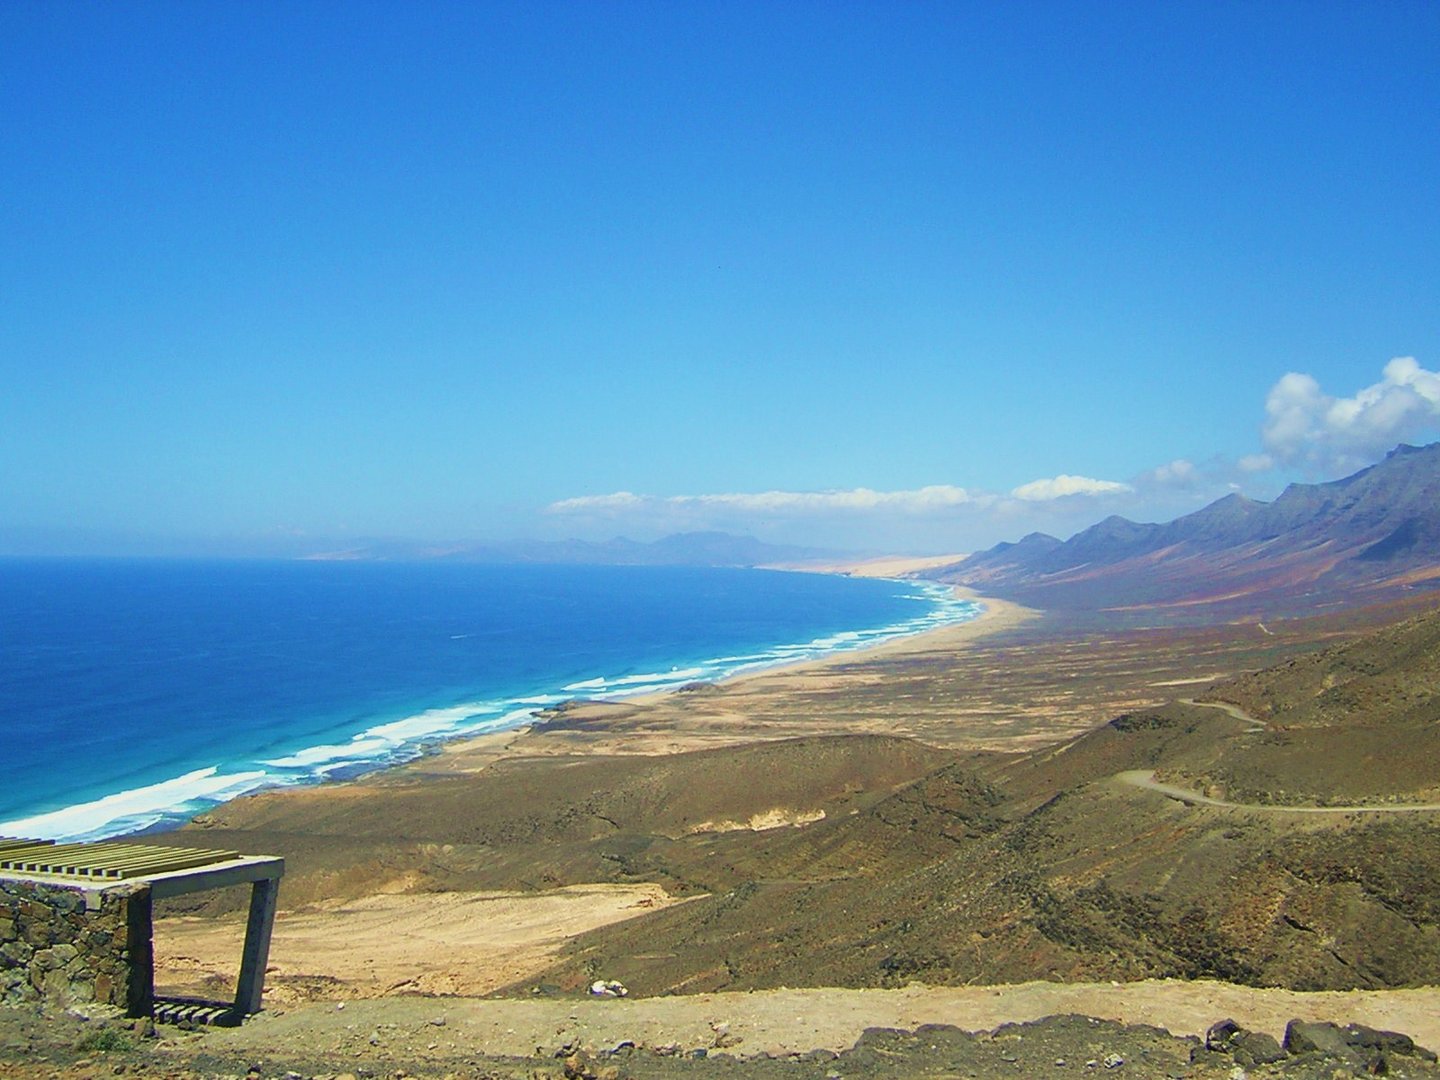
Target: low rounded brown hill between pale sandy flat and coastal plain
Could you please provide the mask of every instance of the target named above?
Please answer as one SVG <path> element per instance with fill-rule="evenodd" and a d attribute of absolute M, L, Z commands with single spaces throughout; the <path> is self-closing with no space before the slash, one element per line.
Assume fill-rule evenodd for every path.
<path fill-rule="evenodd" d="M 704 863 L 683 857 L 696 834 L 845 816 L 950 757 L 909 739 L 831 736 L 660 757 L 513 759 L 481 783 L 397 770 L 379 798 L 370 785 L 281 791 L 197 824 L 206 844 L 284 852 L 289 906 L 359 897 L 377 884 L 438 891 L 644 880 L 694 893 L 716 884 Z M 156 840 L 196 842 L 190 831 Z M 213 914 L 240 903 L 239 894 L 202 894 L 170 910 Z"/>

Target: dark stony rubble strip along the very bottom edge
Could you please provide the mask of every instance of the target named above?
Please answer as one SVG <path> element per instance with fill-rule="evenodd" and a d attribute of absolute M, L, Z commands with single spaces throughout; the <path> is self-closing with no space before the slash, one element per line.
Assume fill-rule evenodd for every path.
<path fill-rule="evenodd" d="M 1140 1024 L 1056 1015 L 981 1032 L 940 1024 L 870 1028 L 838 1051 L 746 1047 L 723 1024 L 711 1028 L 703 1045 L 632 1040 L 590 1044 L 582 1027 L 575 1027 L 526 1056 L 487 1056 L 484 1047 L 467 1045 L 462 1037 L 455 1037 L 459 1032 L 449 1028 L 444 1002 L 422 1001 L 419 1007 L 431 1014 L 419 1024 L 359 1025 L 354 1041 L 360 1048 L 344 1053 L 325 1050 L 325 1040 L 314 1038 L 314 1028 L 307 1027 L 271 1025 L 266 1030 L 271 1038 L 246 1041 L 223 1031 L 156 1028 L 150 1021 L 0 1009 L 0 1074 L 13 1080 L 1440 1077 L 1436 1056 L 1408 1035 L 1356 1024 L 1295 1021 L 1286 1027 L 1283 1040 L 1277 1040 L 1230 1020 L 1195 1037 Z M 266 1025 L 261 1021 L 259 1027 Z"/>

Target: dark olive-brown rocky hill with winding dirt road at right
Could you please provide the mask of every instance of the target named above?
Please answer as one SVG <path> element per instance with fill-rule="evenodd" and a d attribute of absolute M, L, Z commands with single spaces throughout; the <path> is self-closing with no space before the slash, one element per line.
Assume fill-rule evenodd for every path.
<path fill-rule="evenodd" d="M 1440 612 L 802 829 L 668 845 L 711 896 L 582 937 L 550 978 L 1434 984 L 1437 638 Z M 1135 783 L 1155 772 L 1200 798 Z"/>

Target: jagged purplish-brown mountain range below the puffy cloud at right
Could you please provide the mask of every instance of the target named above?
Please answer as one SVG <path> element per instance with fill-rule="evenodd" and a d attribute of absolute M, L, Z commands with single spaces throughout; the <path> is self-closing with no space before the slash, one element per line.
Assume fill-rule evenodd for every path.
<path fill-rule="evenodd" d="M 1398 446 L 1273 503 L 1227 495 L 1165 524 L 1109 517 L 979 552 L 943 580 L 1048 609 L 1316 609 L 1440 580 L 1440 444 Z"/>

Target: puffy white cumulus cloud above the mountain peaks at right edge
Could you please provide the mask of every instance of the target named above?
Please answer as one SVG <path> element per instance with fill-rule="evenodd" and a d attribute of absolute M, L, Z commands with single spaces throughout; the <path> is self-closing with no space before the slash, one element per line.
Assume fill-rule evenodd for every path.
<path fill-rule="evenodd" d="M 1270 387 L 1264 410 L 1261 438 L 1272 462 L 1355 468 L 1440 428 L 1440 374 L 1401 356 L 1385 364 L 1378 383 L 1354 397 L 1332 397 L 1312 376 L 1290 372 Z"/>

